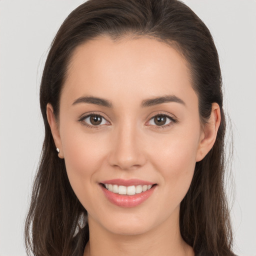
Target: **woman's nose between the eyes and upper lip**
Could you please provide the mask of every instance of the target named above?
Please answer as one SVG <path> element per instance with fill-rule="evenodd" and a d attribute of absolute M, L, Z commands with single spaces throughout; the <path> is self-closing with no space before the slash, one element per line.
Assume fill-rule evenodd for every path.
<path fill-rule="evenodd" d="M 134 169 L 142 166 L 146 157 L 144 154 L 141 134 L 135 125 L 123 124 L 113 130 L 108 162 L 111 166 L 122 170 Z"/>

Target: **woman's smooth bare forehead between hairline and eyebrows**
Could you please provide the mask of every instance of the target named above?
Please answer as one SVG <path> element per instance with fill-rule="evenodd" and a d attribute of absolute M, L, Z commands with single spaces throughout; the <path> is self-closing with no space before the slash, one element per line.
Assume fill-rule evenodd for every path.
<path fill-rule="evenodd" d="M 95 93 L 110 99 L 134 99 L 181 96 L 185 91 L 193 93 L 189 70 L 171 46 L 147 37 L 116 42 L 101 36 L 75 48 L 62 94 L 73 99 Z"/>

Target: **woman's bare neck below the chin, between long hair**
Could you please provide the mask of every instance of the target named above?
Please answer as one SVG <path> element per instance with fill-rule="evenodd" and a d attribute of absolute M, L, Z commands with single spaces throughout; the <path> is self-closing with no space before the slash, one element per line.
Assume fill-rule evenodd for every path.
<path fill-rule="evenodd" d="M 90 238 L 83 256 L 193 256 L 193 249 L 184 242 L 175 221 L 167 219 L 160 226 L 134 235 L 112 233 L 89 219 Z"/>

